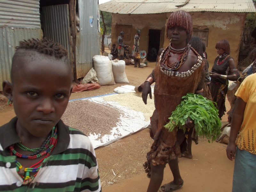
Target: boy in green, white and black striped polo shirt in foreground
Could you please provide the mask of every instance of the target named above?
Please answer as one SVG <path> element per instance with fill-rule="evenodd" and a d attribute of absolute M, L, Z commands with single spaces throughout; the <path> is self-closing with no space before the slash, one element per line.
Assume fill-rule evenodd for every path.
<path fill-rule="evenodd" d="M 17 47 L 3 82 L 16 117 L 0 127 L 0 191 L 101 191 L 92 143 L 60 120 L 72 91 L 67 54 L 45 38 Z"/>

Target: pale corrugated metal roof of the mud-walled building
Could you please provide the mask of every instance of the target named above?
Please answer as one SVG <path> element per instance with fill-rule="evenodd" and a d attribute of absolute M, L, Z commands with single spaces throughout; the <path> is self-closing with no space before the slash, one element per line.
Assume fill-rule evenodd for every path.
<path fill-rule="evenodd" d="M 179 5 L 183 6 L 177 7 Z M 100 11 L 119 14 L 154 14 L 178 10 L 187 12 L 256 12 L 252 0 L 112 0 L 100 4 Z"/>

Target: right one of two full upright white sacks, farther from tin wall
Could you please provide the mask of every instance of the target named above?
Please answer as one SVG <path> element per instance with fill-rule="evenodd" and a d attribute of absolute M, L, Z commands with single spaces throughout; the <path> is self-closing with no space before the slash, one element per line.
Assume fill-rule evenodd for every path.
<path fill-rule="evenodd" d="M 130 83 L 125 74 L 124 60 L 111 60 L 113 75 L 116 83 Z"/>

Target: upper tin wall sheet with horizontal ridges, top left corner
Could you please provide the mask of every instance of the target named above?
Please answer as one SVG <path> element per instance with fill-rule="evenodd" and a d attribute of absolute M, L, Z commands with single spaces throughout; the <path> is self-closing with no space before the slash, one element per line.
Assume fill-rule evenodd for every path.
<path fill-rule="evenodd" d="M 40 29 L 39 0 L 0 0 L 0 26 Z"/>

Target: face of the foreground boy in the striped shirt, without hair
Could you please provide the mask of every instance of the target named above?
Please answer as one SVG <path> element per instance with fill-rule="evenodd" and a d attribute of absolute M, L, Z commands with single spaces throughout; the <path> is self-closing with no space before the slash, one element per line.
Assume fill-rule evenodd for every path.
<path fill-rule="evenodd" d="M 24 68 L 15 72 L 12 82 L 13 107 L 18 117 L 16 129 L 45 137 L 67 108 L 72 90 L 71 71 L 62 60 L 37 52 L 33 59 L 19 59 Z"/>

